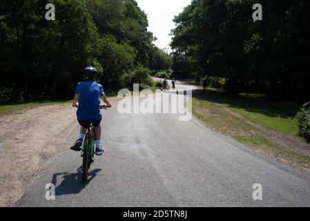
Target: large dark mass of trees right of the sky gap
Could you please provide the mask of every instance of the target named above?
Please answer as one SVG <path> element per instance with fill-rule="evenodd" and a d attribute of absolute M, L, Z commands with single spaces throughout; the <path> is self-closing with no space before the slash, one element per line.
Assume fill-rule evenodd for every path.
<path fill-rule="evenodd" d="M 193 0 L 175 17 L 175 77 L 226 78 L 229 93 L 267 93 L 302 101 L 310 88 L 310 2 L 262 0 L 263 21 L 251 19 L 254 0 Z"/>

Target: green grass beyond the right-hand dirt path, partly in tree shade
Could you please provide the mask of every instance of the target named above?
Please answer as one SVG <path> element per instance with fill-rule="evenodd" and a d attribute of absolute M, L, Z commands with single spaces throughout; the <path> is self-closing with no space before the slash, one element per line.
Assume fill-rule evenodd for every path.
<path fill-rule="evenodd" d="M 282 133 L 298 136 L 298 122 L 295 118 L 299 106 L 288 102 L 271 102 L 265 95 L 240 94 L 229 96 L 224 90 L 209 88 L 206 99 L 222 104 L 229 110 L 238 113 L 251 122 L 255 122 Z M 302 138 L 300 138 L 302 139 Z"/>

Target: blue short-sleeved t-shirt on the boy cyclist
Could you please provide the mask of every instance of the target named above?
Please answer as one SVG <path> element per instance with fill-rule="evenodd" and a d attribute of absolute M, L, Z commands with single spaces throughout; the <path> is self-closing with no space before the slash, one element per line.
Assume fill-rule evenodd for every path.
<path fill-rule="evenodd" d="M 79 107 L 77 119 L 99 120 L 101 119 L 100 96 L 104 95 L 101 84 L 95 81 L 85 81 L 77 84 L 76 94 L 79 94 Z"/>

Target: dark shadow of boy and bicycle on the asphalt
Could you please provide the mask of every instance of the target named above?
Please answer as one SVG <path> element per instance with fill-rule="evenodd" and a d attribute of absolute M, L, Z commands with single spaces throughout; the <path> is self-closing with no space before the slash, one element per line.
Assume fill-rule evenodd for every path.
<path fill-rule="evenodd" d="M 100 171 L 101 169 L 90 171 L 87 182 L 84 182 L 82 179 L 81 166 L 77 169 L 77 173 L 55 173 L 52 176 L 51 182 L 56 186 L 55 195 L 70 195 L 81 192 Z M 57 184 L 57 177 L 61 179 L 60 184 Z"/>

